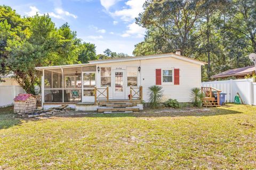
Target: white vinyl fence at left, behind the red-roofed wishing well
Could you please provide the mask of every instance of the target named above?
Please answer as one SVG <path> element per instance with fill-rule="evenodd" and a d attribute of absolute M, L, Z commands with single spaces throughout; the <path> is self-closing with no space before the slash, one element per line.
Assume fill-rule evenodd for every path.
<path fill-rule="evenodd" d="M 0 107 L 12 105 L 15 96 L 24 92 L 21 86 L 0 86 Z"/>

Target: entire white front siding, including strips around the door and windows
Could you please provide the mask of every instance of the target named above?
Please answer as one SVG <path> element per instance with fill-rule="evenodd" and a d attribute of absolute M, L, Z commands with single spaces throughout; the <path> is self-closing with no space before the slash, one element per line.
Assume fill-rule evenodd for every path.
<path fill-rule="evenodd" d="M 173 59 L 150 59 L 141 61 L 116 62 L 98 64 L 97 67 L 111 67 L 113 69 L 121 67 L 126 70 L 126 67 L 141 67 L 141 72 L 138 73 L 138 86 L 143 87 L 143 100 L 148 102 L 148 87 L 156 84 L 156 69 L 177 68 L 180 69 L 180 85 L 162 85 L 164 90 L 164 100 L 177 99 L 179 102 L 189 102 L 191 88 L 201 87 L 201 66 L 190 62 Z M 126 74 L 126 73 L 125 73 Z M 100 72 L 96 74 L 97 87 L 100 88 Z M 111 87 L 109 87 L 109 99 L 113 99 L 113 77 L 111 79 Z M 126 81 L 126 80 L 125 80 Z M 130 87 L 126 84 L 125 98 L 128 99 Z"/>

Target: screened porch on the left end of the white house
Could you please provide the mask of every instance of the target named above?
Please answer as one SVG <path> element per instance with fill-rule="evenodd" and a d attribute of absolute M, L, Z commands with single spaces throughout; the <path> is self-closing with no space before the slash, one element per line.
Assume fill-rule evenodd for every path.
<path fill-rule="evenodd" d="M 77 103 L 83 96 L 94 98 L 96 66 L 43 70 L 43 101 Z"/>

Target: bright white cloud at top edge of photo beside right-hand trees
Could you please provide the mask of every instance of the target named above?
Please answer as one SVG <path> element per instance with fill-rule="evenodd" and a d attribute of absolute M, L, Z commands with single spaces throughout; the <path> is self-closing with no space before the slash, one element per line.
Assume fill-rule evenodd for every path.
<path fill-rule="evenodd" d="M 120 17 L 123 21 L 133 21 L 143 11 L 145 0 L 129 0 L 125 4 L 129 6 L 127 9 L 115 11 L 111 13 L 113 17 Z"/>

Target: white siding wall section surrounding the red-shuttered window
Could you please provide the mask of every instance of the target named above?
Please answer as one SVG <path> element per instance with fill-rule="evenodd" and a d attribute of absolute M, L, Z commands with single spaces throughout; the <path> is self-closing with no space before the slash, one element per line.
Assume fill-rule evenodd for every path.
<path fill-rule="evenodd" d="M 179 85 L 163 85 L 164 100 L 177 99 L 179 102 L 189 102 L 191 88 L 201 87 L 201 66 L 173 58 L 142 60 L 141 84 L 143 100 L 148 102 L 148 87 L 156 84 L 156 69 L 180 69 Z"/>

